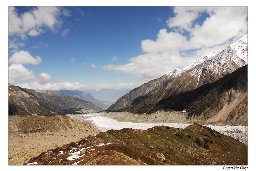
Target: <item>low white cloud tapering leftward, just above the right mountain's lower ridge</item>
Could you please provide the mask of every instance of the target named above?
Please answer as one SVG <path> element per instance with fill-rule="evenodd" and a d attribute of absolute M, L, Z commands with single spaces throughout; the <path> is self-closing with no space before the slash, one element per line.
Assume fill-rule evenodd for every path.
<path fill-rule="evenodd" d="M 107 71 L 114 70 L 136 75 L 140 80 L 150 81 L 171 72 L 173 69 L 184 68 L 195 61 L 196 58 L 184 58 L 179 53 L 147 53 L 132 57 L 125 65 L 108 64 L 101 68 Z M 177 68 L 178 69 L 178 68 Z"/>

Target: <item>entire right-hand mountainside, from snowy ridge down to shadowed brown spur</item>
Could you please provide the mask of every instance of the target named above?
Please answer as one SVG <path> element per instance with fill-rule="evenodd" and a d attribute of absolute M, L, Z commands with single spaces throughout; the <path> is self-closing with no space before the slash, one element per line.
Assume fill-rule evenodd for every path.
<path fill-rule="evenodd" d="M 185 110 L 187 119 L 247 125 L 247 66 L 234 72 L 245 65 L 247 35 L 182 71 L 174 70 L 133 89 L 106 111 Z"/>

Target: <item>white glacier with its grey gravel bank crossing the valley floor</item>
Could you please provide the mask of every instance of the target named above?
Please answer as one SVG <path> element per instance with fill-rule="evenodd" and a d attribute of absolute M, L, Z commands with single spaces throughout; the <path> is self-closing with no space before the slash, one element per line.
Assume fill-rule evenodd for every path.
<path fill-rule="evenodd" d="M 173 115 L 169 112 L 156 112 L 153 114 L 132 114 L 128 112 L 118 113 L 95 113 L 95 114 L 84 114 L 84 115 L 69 115 L 72 119 L 89 121 L 96 126 L 102 132 L 108 130 L 121 130 L 123 128 L 141 129 L 147 130 L 154 126 L 169 126 L 173 128 L 186 128 L 189 125 L 194 124 L 193 121 L 180 121 L 174 120 Z M 169 119 L 166 119 L 169 118 Z M 171 119 L 172 120 L 171 120 Z M 248 131 L 247 126 L 241 125 L 215 125 L 211 122 L 196 121 L 197 124 L 205 125 L 212 128 L 224 135 L 238 139 L 240 142 L 247 145 L 248 143 Z"/>

